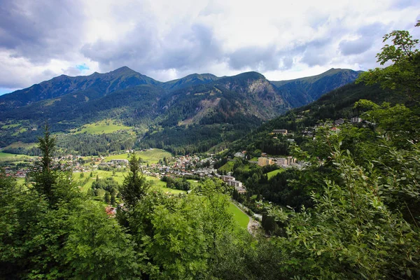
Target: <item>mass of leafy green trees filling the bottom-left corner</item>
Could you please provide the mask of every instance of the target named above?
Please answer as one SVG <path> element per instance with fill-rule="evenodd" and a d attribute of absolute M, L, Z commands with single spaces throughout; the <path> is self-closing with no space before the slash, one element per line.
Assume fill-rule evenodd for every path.
<path fill-rule="evenodd" d="M 1 279 L 129 279 L 130 236 L 59 174 L 53 208 L 34 188 L 0 175 Z M 66 196 L 62 190 L 66 191 Z"/>

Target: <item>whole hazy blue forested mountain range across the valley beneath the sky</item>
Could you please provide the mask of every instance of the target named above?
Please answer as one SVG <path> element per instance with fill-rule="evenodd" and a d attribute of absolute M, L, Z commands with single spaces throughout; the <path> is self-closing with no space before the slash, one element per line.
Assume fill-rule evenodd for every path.
<path fill-rule="evenodd" d="M 90 76 L 62 75 L 0 96 L 0 146 L 36 141 L 45 120 L 52 132 L 65 133 L 115 120 L 134 127 L 139 147 L 207 151 L 352 83 L 358 74 L 330 69 L 318 76 L 269 81 L 257 72 L 195 73 L 162 83 L 124 66 Z M 179 147 L 183 151 L 175 151 Z"/>

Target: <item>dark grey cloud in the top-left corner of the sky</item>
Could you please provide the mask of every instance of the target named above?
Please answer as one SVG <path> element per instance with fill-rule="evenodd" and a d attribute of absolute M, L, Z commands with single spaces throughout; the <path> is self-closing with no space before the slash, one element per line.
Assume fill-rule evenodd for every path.
<path fill-rule="evenodd" d="M 1 1 L 0 49 L 35 64 L 65 59 L 80 41 L 85 18 L 78 0 Z"/>

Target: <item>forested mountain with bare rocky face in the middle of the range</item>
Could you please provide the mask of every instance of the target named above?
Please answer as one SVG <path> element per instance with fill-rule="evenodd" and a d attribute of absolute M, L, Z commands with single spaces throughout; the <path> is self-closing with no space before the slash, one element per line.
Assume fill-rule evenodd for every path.
<path fill-rule="evenodd" d="M 226 145 L 290 108 L 256 72 L 185 87 L 167 94 L 160 104 L 166 111 L 139 146 L 165 148 L 176 154 Z"/>

